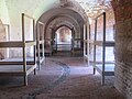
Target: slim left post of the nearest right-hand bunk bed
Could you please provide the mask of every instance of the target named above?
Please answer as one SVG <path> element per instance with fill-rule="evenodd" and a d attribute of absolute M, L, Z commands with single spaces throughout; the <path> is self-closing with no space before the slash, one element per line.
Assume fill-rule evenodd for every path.
<path fill-rule="evenodd" d="M 95 41 L 97 41 L 97 19 L 95 22 Z M 96 74 L 96 45 L 94 44 L 94 75 Z"/>

